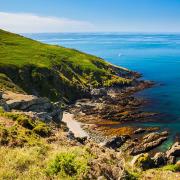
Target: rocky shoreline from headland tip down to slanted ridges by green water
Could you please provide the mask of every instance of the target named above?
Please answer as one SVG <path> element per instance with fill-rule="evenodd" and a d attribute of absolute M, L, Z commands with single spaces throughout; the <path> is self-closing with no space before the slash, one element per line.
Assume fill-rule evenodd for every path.
<path fill-rule="evenodd" d="M 136 83 L 131 87 L 111 88 L 107 90 L 106 95 L 78 100 L 69 106 L 68 112 L 73 114 L 74 120 L 81 123 L 81 128 L 96 143 L 103 143 L 114 137 L 129 136 L 130 139 L 125 143 L 124 148 L 128 149 L 130 154 L 138 147 L 144 148 L 142 152 L 155 154 L 156 148 L 168 139 L 168 132 L 159 127 L 142 128 L 135 125 L 138 122 L 153 122 L 158 115 L 139 110 L 143 107 L 145 100 L 134 96 L 136 92 L 152 88 L 154 82 L 135 81 Z M 134 123 L 133 126 L 132 123 Z M 154 134 L 152 142 L 155 143 L 146 148 L 144 137 Z M 133 147 L 131 147 L 132 144 Z"/>

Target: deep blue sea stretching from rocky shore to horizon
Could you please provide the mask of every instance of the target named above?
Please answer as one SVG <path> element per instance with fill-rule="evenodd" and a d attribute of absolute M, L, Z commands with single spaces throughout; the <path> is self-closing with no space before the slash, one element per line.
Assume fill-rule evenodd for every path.
<path fill-rule="evenodd" d="M 146 109 L 166 114 L 145 126 L 180 134 L 180 34 L 28 34 L 33 39 L 75 48 L 143 74 L 157 85 L 138 95 L 149 99 Z"/>

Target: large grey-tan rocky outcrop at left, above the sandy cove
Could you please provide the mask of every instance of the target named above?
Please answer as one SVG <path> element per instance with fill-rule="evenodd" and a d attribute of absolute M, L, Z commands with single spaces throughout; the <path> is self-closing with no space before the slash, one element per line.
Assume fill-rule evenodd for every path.
<path fill-rule="evenodd" d="M 17 110 L 41 120 L 60 123 L 62 111 L 58 103 L 51 103 L 47 98 L 17 94 L 10 91 L 2 93 L 0 100 L 4 110 Z"/>

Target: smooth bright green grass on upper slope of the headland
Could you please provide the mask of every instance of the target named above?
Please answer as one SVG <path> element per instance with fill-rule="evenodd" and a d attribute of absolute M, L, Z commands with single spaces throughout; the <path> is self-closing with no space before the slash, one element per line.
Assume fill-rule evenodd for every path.
<path fill-rule="evenodd" d="M 80 66 L 82 69 L 86 69 L 86 67 L 96 69 L 96 66 L 90 62 L 97 58 L 76 50 L 42 44 L 2 30 L 0 30 L 0 41 L 0 56 L 3 59 L 1 64 L 18 67 L 34 64 L 50 68 L 53 63 L 61 63 L 62 60 L 65 60 L 69 63 L 76 62 L 75 66 Z"/>

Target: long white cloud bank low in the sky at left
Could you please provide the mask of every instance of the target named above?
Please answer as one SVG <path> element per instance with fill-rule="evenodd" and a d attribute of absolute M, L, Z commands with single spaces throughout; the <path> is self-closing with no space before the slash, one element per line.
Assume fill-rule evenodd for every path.
<path fill-rule="evenodd" d="M 93 24 L 58 17 L 27 13 L 0 12 L 0 29 L 16 33 L 92 31 Z"/>

